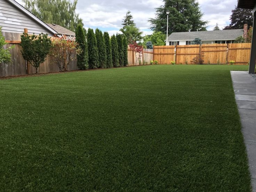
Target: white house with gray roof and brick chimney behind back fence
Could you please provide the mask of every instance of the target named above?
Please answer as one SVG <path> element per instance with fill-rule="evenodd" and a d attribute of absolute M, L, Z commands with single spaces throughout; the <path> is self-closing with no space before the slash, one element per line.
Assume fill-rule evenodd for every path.
<path fill-rule="evenodd" d="M 167 45 L 191 45 L 195 38 L 200 38 L 202 44 L 232 43 L 239 36 L 246 38 L 247 30 L 245 24 L 244 29 L 171 33 Z"/>

